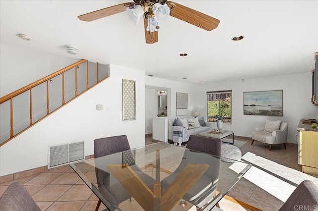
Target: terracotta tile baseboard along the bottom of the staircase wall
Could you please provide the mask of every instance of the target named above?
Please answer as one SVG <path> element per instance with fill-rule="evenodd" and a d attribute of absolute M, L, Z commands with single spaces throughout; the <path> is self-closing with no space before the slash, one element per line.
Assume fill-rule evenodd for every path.
<path fill-rule="evenodd" d="M 85 159 L 90 159 L 90 158 L 94 158 L 94 155 L 85 156 Z M 66 164 L 66 165 L 69 165 L 69 164 Z M 49 170 L 50 169 L 49 169 L 48 165 L 46 165 L 46 166 L 41 166 L 38 168 L 33 168 L 33 169 L 25 170 L 25 171 L 16 172 L 13 174 L 0 176 L 0 183 L 9 182 L 12 180 L 20 179 L 20 178 L 27 177 L 27 176 L 32 176 L 35 174 L 44 173 L 44 172 L 47 172 Z"/>

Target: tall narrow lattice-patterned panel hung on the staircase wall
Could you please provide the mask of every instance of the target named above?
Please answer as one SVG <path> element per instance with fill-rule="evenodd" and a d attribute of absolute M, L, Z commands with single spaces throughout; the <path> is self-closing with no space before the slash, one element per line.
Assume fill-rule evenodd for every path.
<path fill-rule="evenodd" d="M 123 79 L 123 121 L 136 119 L 136 81 Z"/>

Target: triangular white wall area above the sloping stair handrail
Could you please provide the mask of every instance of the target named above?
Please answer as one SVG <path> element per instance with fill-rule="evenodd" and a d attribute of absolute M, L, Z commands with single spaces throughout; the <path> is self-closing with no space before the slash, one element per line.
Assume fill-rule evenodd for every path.
<path fill-rule="evenodd" d="M 1 97 L 80 60 L 3 43 L 0 49 Z"/>

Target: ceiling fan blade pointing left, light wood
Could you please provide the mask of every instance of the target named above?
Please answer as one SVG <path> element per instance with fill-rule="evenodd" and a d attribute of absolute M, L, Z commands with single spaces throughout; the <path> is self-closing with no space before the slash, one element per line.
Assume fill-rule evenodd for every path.
<path fill-rule="evenodd" d="M 117 14 L 120 12 L 124 12 L 124 11 L 126 11 L 127 5 L 131 5 L 131 4 L 135 4 L 135 3 L 134 2 L 121 3 L 118 5 L 106 7 L 106 8 L 99 9 L 99 10 L 96 10 L 93 12 L 88 12 L 88 13 L 83 14 L 83 15 L 79 15 L 78 18 L 79 18 L 79 20 L 83 20 L 83 21 L 97 20 L 99 18 L 107 17 L 109 15 L 114 15 L 114 14 Z"/>

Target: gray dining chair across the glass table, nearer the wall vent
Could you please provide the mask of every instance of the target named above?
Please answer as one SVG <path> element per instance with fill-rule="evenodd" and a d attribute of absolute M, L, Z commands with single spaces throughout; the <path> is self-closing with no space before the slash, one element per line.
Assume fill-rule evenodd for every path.
<path fill-rule="evenodd" d="M 145 182 L 148 187 L 153 187 L 155 179 L 146 173 L 142 172 L 136 165 L 134 156 L 130 150 L 130 145 L 126 135 L 112 136 L 94 140 L 94 158 L 109 156 L 111 161 L 118 161 L 118 164 L 128 164 L 135 171 L 135 173 Z M 116 154 L 120 153 L 122 154 Z M 95 162 L 104 162 L 105 165 L 110 160 L 97 159 Z M 115 161 L 115 162 L 116 162 Z M 95 168 L 97 185 L 99 192 L 103 195 L 105 200 L 109 202 L 109 209 L 120 210 L 119 204 L 130 199 L 131 195 L 109 172 L 99 168 Z M 116 180 L 117 182 L 113 182 Z M 112 182 L 111 182 L 112 181 Z M 100 206 L 101 200 L 98 201 L 96 210 Z"/>

